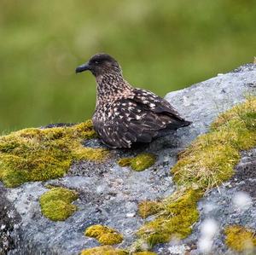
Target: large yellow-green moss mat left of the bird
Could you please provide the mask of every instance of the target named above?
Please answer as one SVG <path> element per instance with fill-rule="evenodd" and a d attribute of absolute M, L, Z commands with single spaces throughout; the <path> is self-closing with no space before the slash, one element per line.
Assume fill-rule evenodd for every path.
<path fill-rule="evenodd" d="M 91 121 L 69 127 L 25 129 L 0 136 L 0 180 L 7 187 L 63 177 L 73 160 L 102 160 L 108 150 L 84 148 L 96 137 Z"/>

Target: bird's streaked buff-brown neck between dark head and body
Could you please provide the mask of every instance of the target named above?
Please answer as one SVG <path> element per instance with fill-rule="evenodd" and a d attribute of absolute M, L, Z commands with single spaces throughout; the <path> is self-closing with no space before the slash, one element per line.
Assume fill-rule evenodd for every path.
<path fill-rule="evenodd" d="M 106 73 L 96 77 L 97 104 L 100 101 L 117 100 L 131 94 L 132 87 L 121 73 Z"/>

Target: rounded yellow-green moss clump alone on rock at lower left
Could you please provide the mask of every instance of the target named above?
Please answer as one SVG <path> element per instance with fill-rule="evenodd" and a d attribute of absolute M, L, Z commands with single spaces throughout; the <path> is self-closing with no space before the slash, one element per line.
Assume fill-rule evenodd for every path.
<path fill-rule="evenodd" d="M 72 202 L 78 194 L 67 188 L 52 188 L 40 197 L 41 211 L 52 221 L 64 221 L 77 210 Z"/>

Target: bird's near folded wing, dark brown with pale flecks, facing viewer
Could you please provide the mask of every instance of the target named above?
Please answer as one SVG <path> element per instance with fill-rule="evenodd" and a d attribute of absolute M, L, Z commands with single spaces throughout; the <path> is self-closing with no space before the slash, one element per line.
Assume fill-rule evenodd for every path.
<path fill-rule="evenodd" d="M 109 114 L 108 114 L 109 113 Z M 102 142 L 111 148 L 130 148 L 134 142 L 151 142 L 158 130 L 165 129 L 168 117 L 159 117 L 131 98 L 105 106 L 107 119 L 94 116 L 93 123 Z"/>

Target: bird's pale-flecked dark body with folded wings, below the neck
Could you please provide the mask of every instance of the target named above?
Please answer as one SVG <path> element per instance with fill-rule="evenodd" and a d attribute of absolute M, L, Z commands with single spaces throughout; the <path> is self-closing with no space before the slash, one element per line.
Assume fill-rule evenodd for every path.
<path fill-rule="evenodd" d="M 136 142 L 152 142 L 156 137 L 166 136 L 168 130 L 190 124 L 168 101 L 140 89 L 100 104 L 93 123 L 102 142 L 111 148 L 131 148 Z"/>

